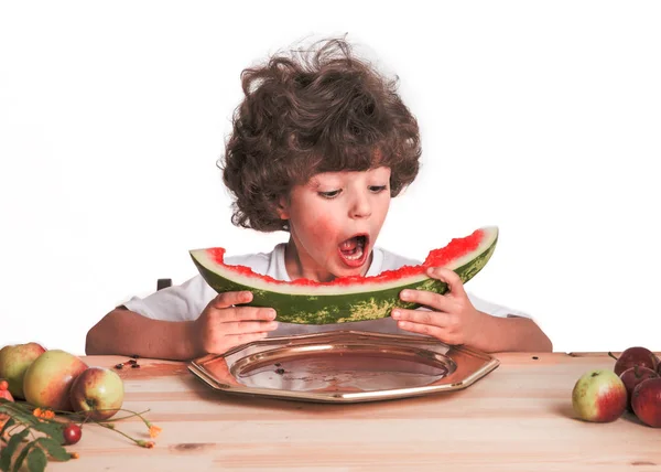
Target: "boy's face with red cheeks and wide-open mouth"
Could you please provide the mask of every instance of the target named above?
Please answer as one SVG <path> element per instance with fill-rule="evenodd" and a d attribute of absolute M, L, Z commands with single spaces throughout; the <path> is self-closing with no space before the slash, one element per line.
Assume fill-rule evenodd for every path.
<path fill-rule="evenodd" d="M 279 212 L 289 219 L 290 277 L 329 281 L 365 275 L 389 207 L 389 168 L 324 172 L 294 186 Z"/>

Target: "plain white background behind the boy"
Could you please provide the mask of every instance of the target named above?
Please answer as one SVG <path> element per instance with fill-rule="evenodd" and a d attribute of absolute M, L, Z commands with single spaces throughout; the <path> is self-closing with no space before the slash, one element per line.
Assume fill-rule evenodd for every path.
<path fill-rule="evenodd" d="M 398 74 L 420 178 L 379 245 L 500 227 L 467 289 L 555 351 L 661 350 L 661 3 L 43 2 L 0 7 L 0 345 L 83 354 L 117 303 L 234 227 L 216 160 L 243 67 L 342 35 Z"/>

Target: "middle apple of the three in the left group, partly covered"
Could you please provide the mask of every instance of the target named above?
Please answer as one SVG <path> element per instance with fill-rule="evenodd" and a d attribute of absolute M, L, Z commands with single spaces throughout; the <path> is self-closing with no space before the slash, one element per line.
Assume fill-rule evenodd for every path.
<path fill-rule="evenodd" d="M 87 364 L 66 351 L 46 351 L 25 372 L 25 399 L 36 407 L 71 411 L 71 385 L 86 368 Z"/>

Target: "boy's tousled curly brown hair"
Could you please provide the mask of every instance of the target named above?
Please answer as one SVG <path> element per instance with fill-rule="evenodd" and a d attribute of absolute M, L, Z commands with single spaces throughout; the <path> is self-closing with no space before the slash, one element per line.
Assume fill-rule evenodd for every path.
<path fill-rule="evenodd" d="M 388 167 L 391 196 L 415 179 L 420 132 L 398 78 L 354 57 L 344 40 L 273 55 L 243 69 L 241 81 L 245 98 L 218 165 L 236 226 L 286 230 L 281 197 L 319 172 Z"/>

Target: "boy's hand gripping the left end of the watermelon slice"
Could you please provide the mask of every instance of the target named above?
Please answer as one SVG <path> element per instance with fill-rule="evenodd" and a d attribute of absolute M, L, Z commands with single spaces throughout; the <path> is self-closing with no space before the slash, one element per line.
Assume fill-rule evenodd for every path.
<path fill-rule="evenodd" d="M 272 308 L 239 305 L 250 300 L 249 291 L 219 293 L 213 299 L 195 321 L 196 351 L 224 354 L 240 344 L 261 340 L 277 329 Z"/>

